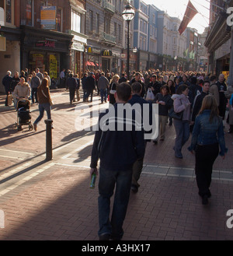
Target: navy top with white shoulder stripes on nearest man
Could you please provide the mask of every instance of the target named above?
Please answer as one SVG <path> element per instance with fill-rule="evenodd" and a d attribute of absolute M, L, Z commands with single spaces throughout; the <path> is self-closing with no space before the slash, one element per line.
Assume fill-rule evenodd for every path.
<path fill-rule="evenodd" d="M 122 106 L 122 105 L 121 105 Z M 96 131 L 94 144 L 92 147 L 91 168 L 96 168 L 100 159 L 100 167 L 106 170 L 131 170 L 137 159 L 144 157 L 144 131 L 136 131 L 134 117 L 132 118 L 132 129 L 127 131 L 123 125 L 122 131 L 117 128 L 117 109 L 119 104 L 115 103 L 113 107 L 106 110 L 106 113 L 99 115 L 99 131 Z M 135 113 L 135 112 L 134 112 Z M 134 116 L 134 115 L 133 115 Z M 112 125 L 115 131 L 106 129 L 103 132 L 100 128 L 103 118 L 106 118 L 106 125 Z M 121 122 L 120 122 L 121 121 Z M 123 118 L 119 122 L 126 124 L 126 111 L 123 112 Z"/>

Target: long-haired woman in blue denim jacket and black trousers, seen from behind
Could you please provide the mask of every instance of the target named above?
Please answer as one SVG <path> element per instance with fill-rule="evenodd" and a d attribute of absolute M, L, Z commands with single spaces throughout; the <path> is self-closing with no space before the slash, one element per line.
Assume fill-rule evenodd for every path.
<path fill-rule="evenodd" d="M 228 151 L 225 147 L 223 122 L 218 116 L 217 102 L 212 95 L 203 99 L 194 124 L 191 146 L 188 149 L 191 153 L 196 153 L 196 184 L 203 205 L 207 205 L 211 196 L 210 183 L 214 161 L 218 154 L 224 159 Z"/>

